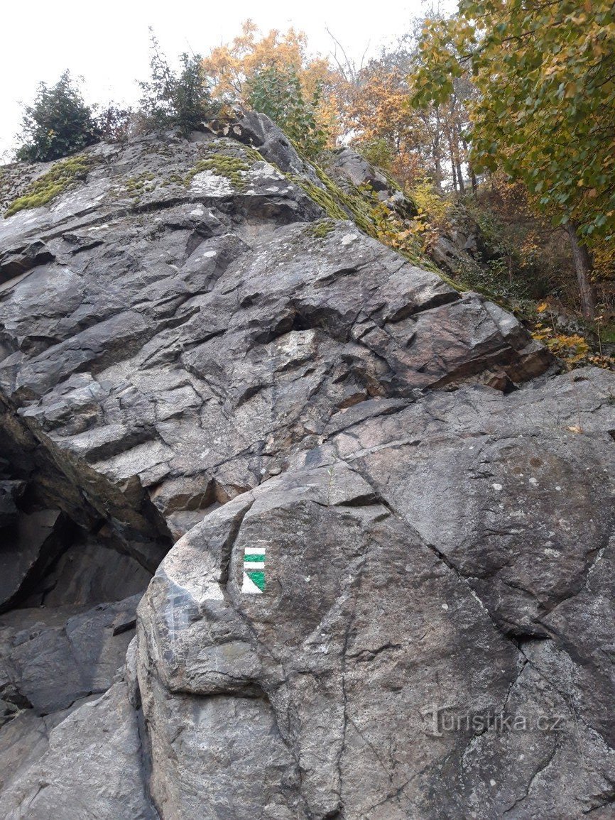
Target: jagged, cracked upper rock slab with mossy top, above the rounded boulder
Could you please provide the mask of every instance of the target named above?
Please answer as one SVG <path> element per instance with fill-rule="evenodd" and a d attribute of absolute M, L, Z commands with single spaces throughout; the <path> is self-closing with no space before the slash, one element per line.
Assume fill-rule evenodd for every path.
<path fill-rule="evenodd" d="M 0 227 L 53 257 L 0 302 L 11 423 L 148 568 L 165 524 L 177 537 L 280 471 L 340 408 L 549 365 L 512 317 L 351 223 L 315 227 L 301 187 L 203 140 L 92 149 L 87 184 Z"/>

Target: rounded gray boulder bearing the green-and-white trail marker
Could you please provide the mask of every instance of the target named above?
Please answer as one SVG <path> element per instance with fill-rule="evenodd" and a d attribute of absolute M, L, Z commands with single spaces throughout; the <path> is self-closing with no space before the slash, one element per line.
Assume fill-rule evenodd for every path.
<path fill-rule="evenodd" d="M 340 412 L 326 444 L 175 544 L 139 608 L 162 817 L 240 817 L 248 783 L 267 818 L 608 804 L 612 384 L 588 370 Z M 258 550 L 262 594 L 244 576 Z M 275 777 L 199 797 L 212 744 L 253 748 L 255 727 Z"/>

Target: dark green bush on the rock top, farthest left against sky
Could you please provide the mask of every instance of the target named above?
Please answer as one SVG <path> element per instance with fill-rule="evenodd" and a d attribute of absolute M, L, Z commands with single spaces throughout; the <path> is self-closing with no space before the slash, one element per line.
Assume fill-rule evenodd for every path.
<path fill-rule="evenodd" d="M 52 88 L 39 84 L 34 104 L 25 107 L 18 139 L 23 145 L 16 157 L 22 162 L 50 162 L 98 142 L 92 109 L 68 71 Z"/>

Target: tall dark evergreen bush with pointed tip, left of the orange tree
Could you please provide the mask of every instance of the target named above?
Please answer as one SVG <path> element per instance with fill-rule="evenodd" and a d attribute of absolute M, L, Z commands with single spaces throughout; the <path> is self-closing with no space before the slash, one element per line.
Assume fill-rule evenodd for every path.
<path fill-rule="evenodd" d="M 153 34 L 151 48 L 150 80 L 139 83 L 143 94 L 140 107 L 144 125 L 152 130 L 175 126 L 188 136 L 190 131 L 198 130 L 203 121 L 220 111 L 220 105 L 212 102 L 207 88 L 203 58 L 199 54 L 192 57 L 182 54 L 182 67 L 177 74 L 166 61 Z"/>

